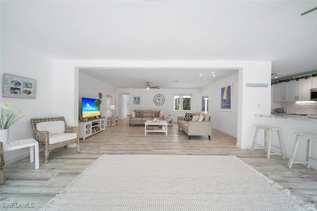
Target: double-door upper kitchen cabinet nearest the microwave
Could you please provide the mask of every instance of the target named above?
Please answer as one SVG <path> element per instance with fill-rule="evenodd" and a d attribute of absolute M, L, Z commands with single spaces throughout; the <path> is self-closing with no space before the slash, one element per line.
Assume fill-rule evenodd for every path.
<path fill-rule="evenodd" d="M 302 79 L 299 81 L 287 82 L 287 102 L 309 101 L 312 79 Z"/>

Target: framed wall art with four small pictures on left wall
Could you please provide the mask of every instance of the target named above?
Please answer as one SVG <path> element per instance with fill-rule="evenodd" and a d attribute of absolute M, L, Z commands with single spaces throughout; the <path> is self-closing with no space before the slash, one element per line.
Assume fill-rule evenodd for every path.
<path fill-rule="evenodd" d="M 36 80 L 3 74 L 3 97 L 36 98 Z"/>

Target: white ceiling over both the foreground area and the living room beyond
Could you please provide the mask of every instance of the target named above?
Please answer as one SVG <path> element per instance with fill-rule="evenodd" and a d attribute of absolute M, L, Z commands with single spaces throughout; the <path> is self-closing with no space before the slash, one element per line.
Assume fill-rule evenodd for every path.
<path fill-rule="evenodd" d="M 272 61 L 279 78 L 317 71 L 317 10 L 300 15 L 317 7 L 317 0 L 1 0 L 0 6 L 1 40 L 52 59 Z M 201 87 L 235 72 L 216 70 L 211 77 L 211 70 L 197 69 L 82 71 L 122 88 L 147 81 L 176 87 L 171 81 L 183 80 Z"/>

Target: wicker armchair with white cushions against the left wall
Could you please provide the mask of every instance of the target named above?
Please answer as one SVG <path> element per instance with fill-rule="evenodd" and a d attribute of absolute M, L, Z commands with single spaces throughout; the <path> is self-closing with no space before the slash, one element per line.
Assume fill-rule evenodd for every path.
<path fill-rule="evenodd" d="M 49 129 L 51 130 L 49 131 L 42 131 L 42 130 L 38 130 L 39 127 L 37 127 L 37 124 L 39 123 L 46 123 L 46 122 L 54 122 L 54 121 L 63 121 L 64 125 L 65 125 L 65 130 L 59 134 L 54 134 L 55 131 L 53 128 L 51 129 L 51 127 L 49 126 Z M 59 122 L 60 123 L 60 122 Z M 52 124 L 52 123 L 49 123 Z M 53 123 L 54 124 L 54 123 Z M 43 128 L 43 124 L 40 124 Z M 39 126 L 40 126 L 39 125 Z M 78 127 L 68 127 L 65 124 L 65 120 L 64 117 L 50 117 L 50 118 L 37 118 L 37 119 L 31 119 L 31 127 L 32 127 L 32 133 L 33 133 L 33 138 L 35 140 L 37 140 L 39 142 L 39 147 L 40 149 L 44 150 L 44 163 L 48 163 L 49 162 L 49 154 L 51 152 L 51 150 L 56 149 L 58 147 L 67 147 L 67 145 L 75 143 L 77 144 L 77 152 L 80 151 L 79 148 L 79 134 L 78 134 Z M 65 133 L 77 133 L 77 135 L 72 134 L 72 138 L 65 138 L 63 139 L 63 135 L 70 135 L 70 134 L 65 134 Z M 57 137 L 56 137 L 57 135 Z M 51 140 L 53 140 L 53 136 L 55 136 L 54 138 L 57 138 L 57 141 L 50 141 L 50 137 Z M 76 138 L 75 138 L 76 136 Z"/>

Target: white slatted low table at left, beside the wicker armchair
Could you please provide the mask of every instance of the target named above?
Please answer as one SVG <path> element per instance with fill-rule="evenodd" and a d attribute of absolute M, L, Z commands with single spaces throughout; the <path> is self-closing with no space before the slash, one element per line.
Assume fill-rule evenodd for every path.
<path fill-rule="evenodd" d="M 35 160 L 35 169 L 39 169 L 39 142 L 37 142 L 34 138 L 8 142 L 7 144 L 3 145 L 3 152 L 27 147 L 30 147 L 30 163 L 33 163 Z"/>

